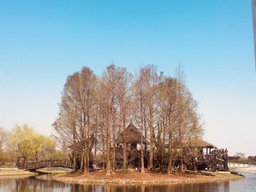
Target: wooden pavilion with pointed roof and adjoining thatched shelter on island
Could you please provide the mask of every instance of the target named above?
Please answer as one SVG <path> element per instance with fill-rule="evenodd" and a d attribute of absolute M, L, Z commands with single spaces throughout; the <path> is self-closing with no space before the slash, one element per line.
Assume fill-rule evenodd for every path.
<path fill-rule="evenodd" d="M 140 146 L 141 139 L 143 146 Z M 116 168 L 121 169 L 124 158 L 124 144 L 127 148 L 127 167 L 140 168 L 140 147 L 143 147 L 144 167 L 148 167 L 148 145 L 146 137 L 143 137 L 134 126 L 129 123 L 129 126 L 124 129 L 115 140 L 116 143 Z M 162 154 L 154 154 L 154 169 L 159 168 L 162 172 L 166 171 L 168 159 L 168 147 L 165 145 L 165 150 Z M 161 153 L 161 152 L 160 152 Z M 181 145 L 174 144 L 173 146 L 173 166 L 176 169 L 189 170 L 212 170 L 212 171 L 228 171 L 227 166 L 227 150 L 218 150 L 215 145 L 202 139 L 189 139 L 189 141 Z"/>

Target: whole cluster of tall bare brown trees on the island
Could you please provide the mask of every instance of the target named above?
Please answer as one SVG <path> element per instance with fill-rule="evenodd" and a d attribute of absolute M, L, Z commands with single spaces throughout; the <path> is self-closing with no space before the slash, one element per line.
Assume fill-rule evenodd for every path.
<path fill-rule="evenodd" d="M 74 169 L 88 174 L 91 159 L 101 155 L 111 174 L 116 169 L 116 137 L 131 121 L 140 131 L 140 146 L 142 137 L 148 139 L 148 169 L 154 168 L 154 158 L 159 156 L 161 164 L 167 161 L 167 172 L 172 172 L 173 160 L 184 158 L 174 148 L 203 134 L 197 101 L 180 66 L 175 77 L 158 72 L 156 66 L 143 66 L 131 74 L 113 64 L 98 77 L 84 66 L 67 77 L 53 128 L 64 141 Z M 126 142 L 122 154 L 122 169 L 127 169 Z M 145 172 L 144 155 L 140 147 L 141 172 Z"/>

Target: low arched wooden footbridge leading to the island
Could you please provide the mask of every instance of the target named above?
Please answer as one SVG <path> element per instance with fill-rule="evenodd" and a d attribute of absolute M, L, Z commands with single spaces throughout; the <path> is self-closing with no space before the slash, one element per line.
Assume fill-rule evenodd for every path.
<path fill-rule="evenodd" d="M 19 157 L 16 163 L 18 169 L 35 172 L 37 169 L 46 167 L 64 167 L 72 169 L 72 161 L 68 160 L 43 160 L 43 161 L 26 161 L 25 158 Z"/>

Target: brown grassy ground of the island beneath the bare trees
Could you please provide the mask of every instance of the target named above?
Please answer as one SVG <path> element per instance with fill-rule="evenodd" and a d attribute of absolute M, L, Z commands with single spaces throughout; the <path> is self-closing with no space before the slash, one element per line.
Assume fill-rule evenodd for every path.
<path fill-rule="evenodd" d="M 211 176 L 202 174 L 162 174 L 162 173 L 151 173 L 146 172 L 141 174 L 138 171 L 116 171 L 115 174 L 110 176 L 105 175 L 105 171 L 91 172 L 88 175 L 83 173 L 69 173 L 59 174 L 54 176 L 54 179 L 66 182 L 66 183 L 142 183 L 142 184 L 166 184 L 166 183 L 205 183 L 214 181 L 225 181 L 225 180 L 238 180 L 243 177 L 230 173 L 213 173 Z"/>

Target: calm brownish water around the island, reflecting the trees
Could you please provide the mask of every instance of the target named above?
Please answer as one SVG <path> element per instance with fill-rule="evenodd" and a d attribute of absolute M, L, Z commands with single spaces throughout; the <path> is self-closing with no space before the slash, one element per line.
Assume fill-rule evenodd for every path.
<path fill-rule="evenodd" d="M 173 185 L 74 185 L 60 183 L 52 180 L 50 175 L 42 175 L 29 178 L 1 178 L 0 192 L 204 192 L 204 191 L 225 191 L 225 192 L 251 192 L 256 191 L 256 174 L 245 174 L 246 178 L 238 181 L 219 183 L 193 183 Z"/>

